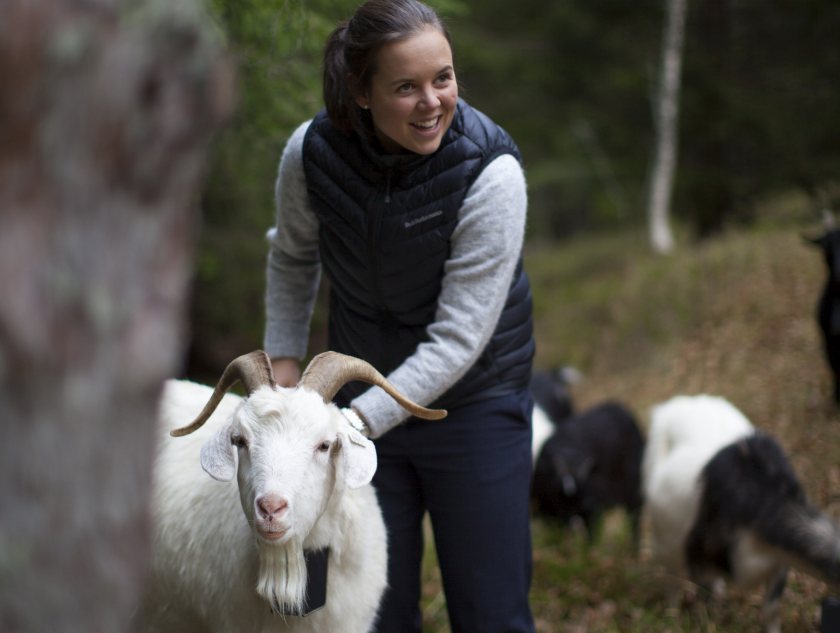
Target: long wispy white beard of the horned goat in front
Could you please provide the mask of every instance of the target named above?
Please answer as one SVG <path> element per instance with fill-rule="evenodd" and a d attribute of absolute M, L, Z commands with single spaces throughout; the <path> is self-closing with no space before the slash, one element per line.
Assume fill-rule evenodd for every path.
<path fill-rule="evenodd" d="M 275 613 L 301 613 L 307 580 L 303 543 L 296 538 L 280 546 L 260 543 L 259 557 L 257 593 Z"/>

